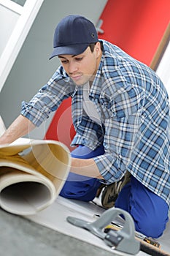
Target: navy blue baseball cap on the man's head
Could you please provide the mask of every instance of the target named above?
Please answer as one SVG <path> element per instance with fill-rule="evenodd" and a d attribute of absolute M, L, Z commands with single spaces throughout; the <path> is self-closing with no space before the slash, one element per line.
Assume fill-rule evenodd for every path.
<path fill-rule="evenodd" d="M 66 16 L 55 29 L 50 59 L 61 54 L 78 55 L 93 42 L 98 42 L 98 34 L 90 20 L 80 15 Z"/>

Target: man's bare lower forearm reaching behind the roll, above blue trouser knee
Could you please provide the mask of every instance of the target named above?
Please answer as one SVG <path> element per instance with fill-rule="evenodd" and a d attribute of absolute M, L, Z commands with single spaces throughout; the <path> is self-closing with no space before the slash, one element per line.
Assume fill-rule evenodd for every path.
<path fill-rule="evenodd" d="M 80 158 L 72 158 L 72 173 L 77 173 L 83 176 L 88 176 L 91 178 L 101 178 L 98 167 L 92 158 L 90 159 L 80 159 Z"/>

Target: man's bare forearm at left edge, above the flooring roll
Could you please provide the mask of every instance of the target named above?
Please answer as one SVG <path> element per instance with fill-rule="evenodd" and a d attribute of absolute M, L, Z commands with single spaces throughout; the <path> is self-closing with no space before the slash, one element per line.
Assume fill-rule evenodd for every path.
<path fill-rule="evenodd" d="M 12 143 L 34 129 L 34 124 L 24 116 L 18 116 L 0 138 L 0 144 Z"/>

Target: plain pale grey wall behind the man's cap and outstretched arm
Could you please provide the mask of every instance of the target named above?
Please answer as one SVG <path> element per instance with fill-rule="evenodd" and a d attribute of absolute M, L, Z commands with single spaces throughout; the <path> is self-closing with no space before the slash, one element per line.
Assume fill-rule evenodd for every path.
<path fill-rule="evenodd" d="M 53 50 L 55 26 L 66 15 L 84 15 L 96 23 L 107 0 L 45 0 L 0 94 L 0 114 L 6 127 L 20 113 L 20 104 L 28 101 L 53 75 L 57 58 L 48 61 Z M 5 26 L 5 24 L 4 24 Z M 34 137 L 42 138 L 50 119 Z"/>

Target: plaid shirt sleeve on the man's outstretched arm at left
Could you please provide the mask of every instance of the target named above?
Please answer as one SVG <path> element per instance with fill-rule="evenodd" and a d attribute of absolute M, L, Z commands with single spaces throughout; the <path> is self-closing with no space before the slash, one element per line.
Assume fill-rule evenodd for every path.
<path fill-rule="evenodd" d="M 52 111 L 55 111 L 63 99 L 74 91 L 69 77 L 59 67 L 48 83 L 40 89 L 30 102 L 22 102 L 21 115 L 26 116 L 36 127 L 39 127 Z"/>

